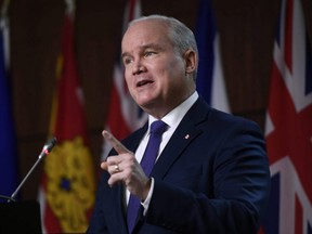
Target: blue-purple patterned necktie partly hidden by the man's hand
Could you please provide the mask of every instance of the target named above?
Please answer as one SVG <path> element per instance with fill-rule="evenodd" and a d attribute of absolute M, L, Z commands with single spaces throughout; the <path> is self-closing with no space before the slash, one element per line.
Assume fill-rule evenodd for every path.
<path fill-rule="evenodd" d="M 161 135 L 167 130 L 166 122 L 161 120 L 157 120 L 152 122 L 151 125 L 151 135 L 145 148 L 145 153 L 143 155 L 141 167 L 143 168 L 145 174 L 150 177 L 152 169 L 154 167 L 156 157 L 158 155 L 159 145 L 161 142 Z M 129 233 L 132 232 L 135 220 L 140 209 L 140 199 L 134 196 L 130 195 L 128 209 L 127 209 L 127 221 L 128 221 L 128 231 Z"/>

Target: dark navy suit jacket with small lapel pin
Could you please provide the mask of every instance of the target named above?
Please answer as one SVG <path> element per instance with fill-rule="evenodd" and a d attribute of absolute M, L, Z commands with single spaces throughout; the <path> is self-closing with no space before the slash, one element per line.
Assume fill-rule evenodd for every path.
<path fill-rule="evenodd" d="M 123 144 L 135 152 L 147 125 Z M 116 153 L 113 153 L 116 154 Z M 134 233 L 257 233 L 270 187 L 259 127 L 209 107 L 202 98 L 186 113 L 154 166 L 155 187 Z M 104 171 L 89 233 L 127 233 L 121 184 Z"/>

